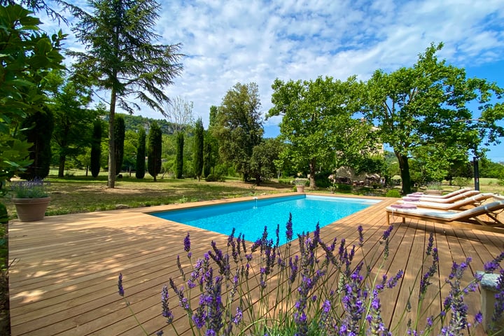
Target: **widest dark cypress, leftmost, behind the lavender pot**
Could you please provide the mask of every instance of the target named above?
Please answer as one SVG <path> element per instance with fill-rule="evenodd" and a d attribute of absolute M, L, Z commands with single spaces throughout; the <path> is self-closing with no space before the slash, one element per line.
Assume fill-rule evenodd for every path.
<path fill-rule="evenodd" d="M 49 175 L 51 160 L 50 140 L 54 129 L 52 112 L 47 108 L 36 111 L 23 121 L 22 128 L 26 129 L 27 141 L 33 144 L 29 148 L 29 158 L 33 163 L 20 177 L 27 180 L 45 179 Z"/>

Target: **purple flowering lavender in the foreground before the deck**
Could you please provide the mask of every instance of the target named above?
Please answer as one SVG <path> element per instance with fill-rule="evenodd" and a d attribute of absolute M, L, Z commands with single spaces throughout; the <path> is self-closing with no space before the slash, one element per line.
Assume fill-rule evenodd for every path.
<path fill-rule="evenodd" d="M 325 244 L 317 224 L 312 235 L 298 235 L 296 255 L 291 255 L 292 216 L 286 224 L 288 243 L 283 246 L 279 246 L 279 231 L 277 226 L 276 239 L 269 239 L 265 228 L 262 237 L 247 247 L 244 235 L 235 237 L 233 230 L 225 251 L 212 241 L 209 251 L 195 262 L 190 235 L 186 236 L 183 246 L 192 269 L 183 269 L 178 256 L 181 276 L 170 278 L 169 286 L 164 286 L 161 293 L 162 316 L 176 335 L 181 334 L 169 307 L 170 289 L 180 309 L 185 311 L 193 335 L 398 335 L 398 326 L 405 321 L 408 335 L 430 335 L 436 330 L 439 335 L 463 335 L 482 321 L 480 313 L 475 321 L 468 321 L 465 295 L 475 291 L 479 281 L 475 278 L 462 286 L 470 258 L 460 264 L 454 262 L 445 283 L 433 286 L 433 277 L 439 273 L 439 257 L 432 234 L 422 267 L 415 274 L 418 294 L 411 288 L 408 309 L 402 312 L 397 325 L 387 325 L 381 314 L 381 299 L 404 276 L 402 269 L 393 276 L 383 272 L 393 226 L 384 231 L 382 248 L 374 249 L 370 257 L 357 263 L 353 260 L 356 252 L 365 254 L 361 226 L 356 245 L 350 246 L 346 239 L 336 238 Z M 498 321 L 504 310 L 504 271 L 500 267 L 503 259 L 504 252 L 485 265 L 487 272 L 500 269 L 494 321 Z M 428 262 L 430 265 L 422 274 L 421 269 Z M 176 284 L 180 280 L 183 282 Z M 428 290 L 434 287 L 439 295 L 444 286 L 449 286 L 449 295 L 439 314 L 425 316 L 436 300 L 435 295 L 428 300 Z M 122 274 L 119 294 L 124 295 Z M 414 316 L 409 314 L 412 302 L 417 303 Z"/>

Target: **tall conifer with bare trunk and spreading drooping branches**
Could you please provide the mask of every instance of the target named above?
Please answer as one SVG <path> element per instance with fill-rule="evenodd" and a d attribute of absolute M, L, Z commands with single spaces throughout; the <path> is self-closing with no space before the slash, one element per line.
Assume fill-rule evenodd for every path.
<path fill-rule="evenodd" d="M 75 58 L 75 78 L 90 81 L 110 92 L 109 188 L 116 182 L 114 124 L 116 106 L 128 113 L 138 104 L 128 97 L 164 114 L 169 102 L 165 87 L 182 71 L 180 44 L 153 44 L 160 3 L 155 0 L 87 0 L 92 13 L 66 3 L 78 19 L 73 26 L 83 52 L 67 52 Z M 132 102 L 133 101 L 133 102 Z"/>

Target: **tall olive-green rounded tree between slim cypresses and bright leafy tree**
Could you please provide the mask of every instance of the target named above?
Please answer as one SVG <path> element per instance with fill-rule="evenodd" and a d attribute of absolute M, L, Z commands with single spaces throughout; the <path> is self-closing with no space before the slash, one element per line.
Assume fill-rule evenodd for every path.
<path fill-rule="evenodd" d="M 225 94 L 211 127 L 221 158 L 235 165 L 244 181 L 251 175 L 253 148 L 260 144 L 264 132 L 260 106 L 258 85 L 237 83 Z"/>

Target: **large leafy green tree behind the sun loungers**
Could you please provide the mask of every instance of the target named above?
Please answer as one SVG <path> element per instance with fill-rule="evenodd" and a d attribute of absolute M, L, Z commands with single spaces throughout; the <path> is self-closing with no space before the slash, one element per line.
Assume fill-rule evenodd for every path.
<path fill-rule="evenodd" d="M 430 45 L 414 66 L 392 73 L 377 70 L 367 82 L 365 116 L 377 121 L 377 135 L 398 158 L 403 194 L 411 189 L 410 156 L 416 154 L 428 164 L 428 176 L 436 170 L 447 174 L 451 162 L 460 160 L 460 153 L 477 151 L 484 136 L 498 143 L 504 134 L 496 125 L 504 118 L 503 108 L 491 104 L 491 99 L 500 99 L 502 89 L 466 78 L 463 69 L 439 61 L 435 54 L 441 48 L 442 43 Z M 478 120 L 468 107 L 473 103 L 482 111 Z"/>

